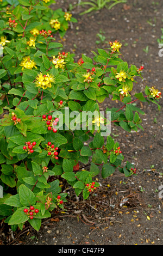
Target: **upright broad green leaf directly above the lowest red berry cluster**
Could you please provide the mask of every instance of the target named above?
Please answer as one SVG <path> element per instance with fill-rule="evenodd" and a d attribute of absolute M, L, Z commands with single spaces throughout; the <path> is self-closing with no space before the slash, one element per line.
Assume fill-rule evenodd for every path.
<path fill-rule="evenodd" d="M 18 192 L 20 194 L 20 202 L 23 206 L 34 205 L 36 203 L 34 193 L 25 185 L 20 185 Z"/>

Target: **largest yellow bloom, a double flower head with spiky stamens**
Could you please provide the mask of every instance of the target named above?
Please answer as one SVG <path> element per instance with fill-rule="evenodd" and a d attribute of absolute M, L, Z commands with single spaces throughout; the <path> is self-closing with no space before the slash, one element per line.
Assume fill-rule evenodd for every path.
<path fill-rule="evenodd" d="M 42 75 L 40 72 L 39 75 L 36 77 L 36 87 L 41 87 L 43 90 L 46 88 L 51 88 L 52 84 L 54 82 L 54 76 L 53 75 Z"/>

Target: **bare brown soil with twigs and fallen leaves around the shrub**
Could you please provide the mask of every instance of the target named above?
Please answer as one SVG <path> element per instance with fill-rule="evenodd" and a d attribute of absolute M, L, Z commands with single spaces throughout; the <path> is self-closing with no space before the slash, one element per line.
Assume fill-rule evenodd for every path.
<path fill-rule="evenodd" d="M 153 2 L 128 0 L 127 5 L 119 4 L 110 11 L 102 9 L 84 16 L 79 15 L 83 8 L 75 7 L 72 14 L 78 23 L 73 23 L 73 28 L 61 40 L 64 51 L 75 53 L 76 61 L 82 57 L 82 53 L 93 57 L 91 50 L 108 47 L 106 42 L 96 44 L 96 34 L 101 30 L 105 41 L 117 39 L 123 43 L 121 52 L 125 61 L 145 66 L 144 80 L 137 81 L 133 94 L 143 91 L 146 85 L 163 89 L 163 57 L 158 55 L 157 42 L 163 27 L 163 3 L 161 0 L 155 1 L 155 4 Z M 52 8 L 67 10 L 70 3 L 78 1 L 59 1 Z M 148 53 L 143 51 L 146 46 L 149 47 Z M 122 105 L 106 99 L 101 109 L 107 106 Z M 138 102 L 137 106 L 146 113 L 142 116 L 144 131 L 127 133 L 115 126 L 111 127 L 111 132 L 120 143 L 126 160 L 135 164 L 138 175 L 125 178 L 117 170 L 104 180 L 98 176 L 101 186 L 85 201 L 82 197 L 76 198 L 67 185 L 69 194 L 65 214 L 54 211 L 52 218 L 43 221 L 40 231 L 26 226 L 13 234 L 15 240 L 11 231 L 1 224 L 1 245 L 163 244 L 163 201 L 158 196 L 163 176 L 162 109 L 159 112 L 156 105 L 140 105 Z M 127 202 L 121 206 L 124 198 Z"/>

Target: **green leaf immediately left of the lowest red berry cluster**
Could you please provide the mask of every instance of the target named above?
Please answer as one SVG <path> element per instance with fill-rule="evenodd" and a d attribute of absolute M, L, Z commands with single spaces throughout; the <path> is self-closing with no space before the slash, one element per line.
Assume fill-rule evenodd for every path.
<path fill-rule="evenodd" d="M 28 221 L 29 217 L 24 213 L 24 207 L 19 208 L 14 214 L 11 216 L 9 220 L 9 225 L 21 224 Z"/>

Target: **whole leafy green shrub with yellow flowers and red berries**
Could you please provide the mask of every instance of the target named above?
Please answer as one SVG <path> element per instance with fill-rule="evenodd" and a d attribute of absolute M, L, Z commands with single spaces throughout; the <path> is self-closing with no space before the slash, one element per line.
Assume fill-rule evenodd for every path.
<path fill-rule="evenodd" d="M 143 129 L 139 114 L 145 113 L 132 103 L 153 102 L 160 108 L 161 97 L 157 89 L 146 87 L 145 95 L 131 99 L 143 66 L 123 62 L 120 42 L 92 51 L 93 59 L 83 54 L 76 63 L 70 52 L 59 52 L 62 45 L 54 42 L 52 30 L 41 27 L 31 38 L 38 25 L 35 14 L 46 11 L 42 1 L 19 3 L 0 21 L 0 218 L 14 231 L 25 222 L 39 230 L 42 218 L 64 208 L 67 193 L 61 180 L 86 200 L 98 190 L 94 177 L 99 173 L 106 178 L 118 169 L 127 177 L 137 175 L 133 164 L 123 163 L 121 146 L 107 129 Z M 13 26 L 13 14 L 21 31 Z M 110 115 L 105 117 L 99 104 L 109 97 L 122 107 L 107 108 Z M 90 170 L 82 170 L 89 161 Z"/>

